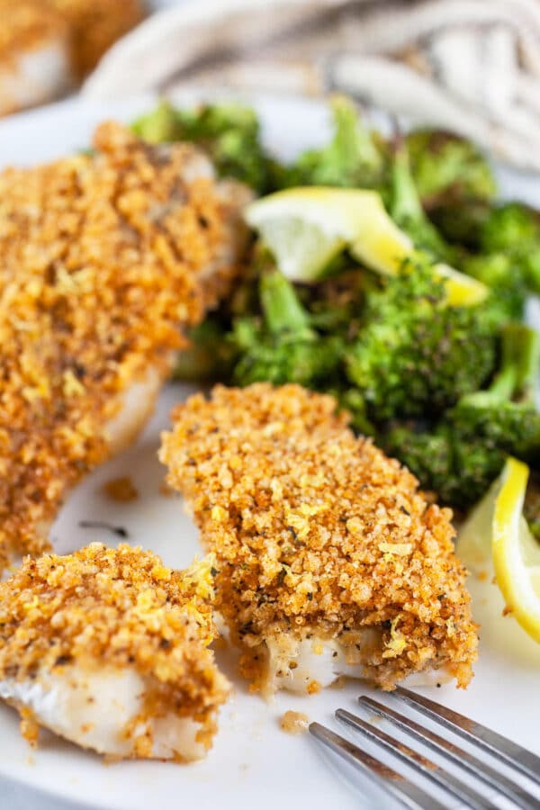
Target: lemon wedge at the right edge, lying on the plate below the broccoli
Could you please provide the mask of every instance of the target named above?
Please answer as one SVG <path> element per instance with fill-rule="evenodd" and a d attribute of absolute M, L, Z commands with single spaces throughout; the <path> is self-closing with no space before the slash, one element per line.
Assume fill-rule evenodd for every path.
<path fill-rule="evenodd" d="M 492 562 L 511 615 L 540 643 L 540 545 L 523 517 L 527 464 L 509 458 L 466 521 L 457 554 L 473 570 Z"/>

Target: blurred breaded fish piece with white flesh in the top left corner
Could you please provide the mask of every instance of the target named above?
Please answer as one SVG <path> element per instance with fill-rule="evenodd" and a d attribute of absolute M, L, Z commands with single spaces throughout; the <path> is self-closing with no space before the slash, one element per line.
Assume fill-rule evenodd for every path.
<path fill-rule="evenodd" d="M 69 30 L 42 0 L 0 0 L 0 115 L 52 101 L 74 82 Z"/>

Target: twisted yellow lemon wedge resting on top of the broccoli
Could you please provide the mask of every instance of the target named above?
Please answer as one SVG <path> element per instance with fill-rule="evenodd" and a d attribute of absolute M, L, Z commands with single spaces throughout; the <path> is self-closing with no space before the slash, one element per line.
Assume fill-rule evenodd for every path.
<path fill-rule="evenodd" d="M 320 278 L 346 248 L 383 275 L 396 275 L 405 259 L 415 257 L 410 238 L 388 215 L 381 195 L 366 189 L 286 189 L 251 202 L 245 217 L 291 281 Z M 450 305 L 472 306 L 488 295 L 484 284 L 453 267 L 435 269 L 445 280 Z"/>

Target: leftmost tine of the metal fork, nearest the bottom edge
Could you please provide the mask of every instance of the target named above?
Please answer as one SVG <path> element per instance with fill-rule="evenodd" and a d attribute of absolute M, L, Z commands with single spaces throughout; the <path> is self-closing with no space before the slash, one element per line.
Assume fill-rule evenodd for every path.
<path fill-rule="evenodd" d="M 446 810 L 445 805 L 441 805 L 409 779 L 387 765 L 383 765 L 383 762 L 375 760 L 345 737 L 334 734 L 326 726 L 311 723 L 310 734 L 320 740 L 320 743 L 327 745 L 338 756 L 354 765 L 375 785 L 400 802 L 401 806 L 409 807 L 410 810 Z"/>

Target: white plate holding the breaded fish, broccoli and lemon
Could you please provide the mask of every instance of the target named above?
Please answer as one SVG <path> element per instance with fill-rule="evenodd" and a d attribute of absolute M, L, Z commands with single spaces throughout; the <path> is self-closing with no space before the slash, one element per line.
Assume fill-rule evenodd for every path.
<path fill-rule="evenodd" d="M 327 111 L 320 103 L 280 101 L 271 96 L 256 102 L 266 142 L 284 157 L 327 136 Z M 94 123 L 103 117 L 130 120 L 133 114 L 148 109 L 148 103 L 148 99 L 139 99 L 103 106 L 75 100 L 15 116 L 0 122 L 0 160 L 3 165 L 31 165 L 85 147 Z M 504 193 L 540 206 L 537 178 L 508 171 L 500 175 Z M 82 519 L 100 519 L 127 527 L 131 542 L 153 549 L 167 564 L 190 563 L 199 551 L 197 535 L 180 502 L 160 494 L 164 470 L 156 460 L 159 432 L 166 427 L 167 413 L 189 392 L 187 386 L 169 386 L 139 444 L 96 471 L 77 489 L 53 530 L 59 552 L 97 539 L 112 542 L 113 538 L 103 532 L 78 527 Z M 129 474 L 140 491 L 141 497 L 134 504 L 112 504 L 100 493 L 103 482 L 121 474 Z M 533 644 L 511 617 L 500 616 L 502 602 L 492 585 L 470 584 L 475 617 L 482 624 L 480 661 L 473 683 L 466 692 L 453 686 L 426 692 L 540 753 L 540 646 Z M 267 705 L 247 693 L 245 684 L 235 676 L 234 654 L 228 654 L 229 658 L 221 661 L 220 653 L 220 663 L 234 681 L 235 693 L 220 714 L 220 732 L 210 755 L 192 766 L 156 762 L 104 765 L 98 757 L 47 734 L 43 734 L 38 751 L 31 752 L 18 733 L 14 711 L 0 707 L 1 810 L 153 810 L 188 804 L 197 810 L 388 806 L 380 797 L 370 797 L 364 784 L 353 789 L 348 777 L 333 767 L 308 735 L 289 736 L 278 723 L 284 711 L 292 708 L 312 720 L 332 724 L 337 707 L 354 711 L 356 695 L 370 693 L 370 689 L 356 683 L 311 698 L 281 694 Z"/>

